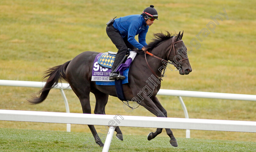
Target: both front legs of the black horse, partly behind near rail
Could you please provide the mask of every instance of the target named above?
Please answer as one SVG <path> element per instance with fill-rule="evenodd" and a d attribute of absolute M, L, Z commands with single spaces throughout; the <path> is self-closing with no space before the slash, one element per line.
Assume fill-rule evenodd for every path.
<path fill-rule="evenodd" d="M 156 115 L 157 117 L 167 117 L 166 110 L 163 108 L 161 103 L 156 97 L 152 97 L 152 100 L 148 96 L 143 96 L 144 100 L 140 102 L 141 106 L 144 106 L 148 111 Z M 157 128 L 156 132 L 148 134 L 148 140 L 155 138 L 158 134 L 162 132 L 162 128 Z M 177 141 L 170 129 L 166 129 L 166 133 L 171 138 L 170 144 L 174 147 L 177 147 Z"/>

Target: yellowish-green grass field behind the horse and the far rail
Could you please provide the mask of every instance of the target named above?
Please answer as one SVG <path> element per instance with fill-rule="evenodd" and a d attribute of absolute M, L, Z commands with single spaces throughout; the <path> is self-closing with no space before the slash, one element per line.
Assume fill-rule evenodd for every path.
<path fill-rule="evenodd" d="M 155 5 L 159 20 L 149 28 L 153 33 L 184 30 L 183 41 L 190 41 L 219 15 L 215 33 L 202 37 L 201 47 L 188 54 L 193 71 L 186 76 L 167 71 L 161 89 L 255 94 L 256 92 L 256 18 L 255 1 L 82 1 L 82 0 L 1 0 L 0 1 L 0 79 L 42 81 L 49 67 L 63 64 L 84 51 L 117 51 L 105 33 L 105 23 L 117 16 L 140 14 Z M 219 14 L 225 8 L 228 20 Z M 52 90 L 39 105 L 26 98 L 38 88 L 0 86 L 0 109 L 66 112 L 59 90 Z M 72 91 L 66 91 L 70 112 L 82 113 Z M 92 112 L 95 98 L 90 95 Z M 183 118 L 177 97 L 158 96 L 168 117 Z M 190 118 L 256 121 L 256 102 L 183 98 Z M 153 116 L 142 106 L 128 113 L 116 97 L 109 97 L 107 114 Z M 65 124 L 1 121 L 0 128 L 65 131 Z M 97 126 L 100 131 L 102 126 Z M 121 127 L 125 135 L 148 135 L 152 128 Z M 87 126 L 71 125 L 72 132 L 87 132 Z M 172 130 L 184 138 L 185 130 Z M 167 137 L 165 131 L 160 135 Z M 159 137 L 160 138 L 160 137 Z M 191 130 L 191 138 L 256 142 L 255 133 Z"/>

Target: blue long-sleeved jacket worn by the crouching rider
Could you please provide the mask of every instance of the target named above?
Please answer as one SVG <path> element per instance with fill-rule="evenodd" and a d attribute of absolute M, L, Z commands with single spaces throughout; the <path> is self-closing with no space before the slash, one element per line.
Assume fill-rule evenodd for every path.
<path fill-rule="evenodd" d="M 128 42 L 136 48 L 142 49 L 143 46 L 148 45 L 146 43 L 146 34 L 149 26 L 142 15 L 128 15 L 120 17 L 115 19 L 113 26 L 119 31 L 123 38 L 128 36 Z M 138 35 L 139 42 L 134 38 L 135 35 Z"/>

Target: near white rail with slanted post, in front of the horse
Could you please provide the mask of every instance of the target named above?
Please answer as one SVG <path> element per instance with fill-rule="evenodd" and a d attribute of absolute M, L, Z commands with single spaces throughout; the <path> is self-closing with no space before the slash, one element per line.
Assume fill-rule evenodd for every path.
<path fill-rule="evenodd" d="M 234 120 L 208 120 L 186 118 L 163 118 L 121 115 L 98 115 L 83 113 L 57 113 L 41 111 L 0 110 L 0 120 L 27 121 L 43 123 L 68 123 L 86 125 L 105 125 L 112 123 L 102 151 L 108 151 L 116 126 L 125 127 L 150 127 L 150 128 L 174 128 L 192 130 L 215 130 L 256 133 L 256 122 Z M 117 124 L 118 123 L 118 124 Z"/>

